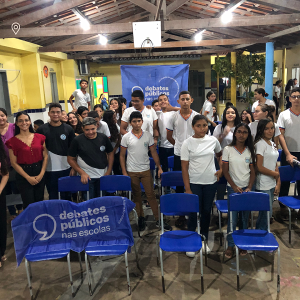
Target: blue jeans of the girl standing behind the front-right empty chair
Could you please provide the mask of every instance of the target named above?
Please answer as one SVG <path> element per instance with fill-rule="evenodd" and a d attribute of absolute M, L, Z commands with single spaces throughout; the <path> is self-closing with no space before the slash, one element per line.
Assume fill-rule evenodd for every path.
<path fill-rule="evenodd" d="M 242 190 L 245 190 L 247 186 L 242 187 Z M 228 204 L 228 223 L 227 223 L 227 242 L 228 247 L 233 247 L 234 242 L 231 234 L 228 234 L 230 232 L 230 213 L 229 213 L 229 195 L 235 193 L 233 188 L 229 185 L 227 185 L 227 204 Z M 239 213 L 239 223 L 238 223 L 238 229 L 247 229 L 248 228 L 248 217 L 249 217 L 249 211 L 232 211 L 232 230 L 234 231 L 236 229 L 237 220 L 238 220 L 238 213 Z"/>

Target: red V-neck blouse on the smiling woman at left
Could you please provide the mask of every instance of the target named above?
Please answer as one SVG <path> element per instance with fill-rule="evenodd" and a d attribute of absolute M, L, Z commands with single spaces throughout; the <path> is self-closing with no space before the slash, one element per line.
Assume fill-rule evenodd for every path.
<path fill-rule="evenodd" d="M 18 164 L 32 164 L 43 159 L 43 144 L 46 137 L 39 133 L 34 133 L 30 147 L 15 136 L 9 138 L 5 145 L 13 150 Z"/>

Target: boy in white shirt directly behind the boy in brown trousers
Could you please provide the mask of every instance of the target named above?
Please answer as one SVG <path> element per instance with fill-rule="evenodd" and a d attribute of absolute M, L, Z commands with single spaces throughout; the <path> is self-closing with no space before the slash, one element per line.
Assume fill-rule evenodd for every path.
<path fill-rule="evenodd" d="M 126 108 L 123 112 L 120 124 L 120 133 L 125 135 L 132 129 L 129 123 L 129 117 L 131 112 L 139 111 L 143 117 L 143 123 L 141 129 L 148 131 L 153 135 L 153 129 L 157 126 L 157 114 L 155 110 L 150 107 L 144 106 L 144 94 L 141 90 L 134 90 L 131 94 L 132 107 Z M 154 136 L 155 146 L 157 144 L 158 136 Z"/>

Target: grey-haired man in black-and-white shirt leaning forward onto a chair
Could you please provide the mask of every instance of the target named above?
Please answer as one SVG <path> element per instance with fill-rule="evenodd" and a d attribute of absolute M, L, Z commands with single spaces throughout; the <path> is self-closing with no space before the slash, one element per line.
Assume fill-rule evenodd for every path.
<path fill-rule="evenodd" d="M 111 174 L 114 154 L 109 138 L 97 132 L 94 118 L 85 117 L 82 129 L 83 134 L 71 142 L 67 161 L 79 173 L 81 182 L 88 182 L 89 198 L 92 199 L 100 196 L 100 177 Z M 84 194 L 83 199 L 86 200 Z"/>

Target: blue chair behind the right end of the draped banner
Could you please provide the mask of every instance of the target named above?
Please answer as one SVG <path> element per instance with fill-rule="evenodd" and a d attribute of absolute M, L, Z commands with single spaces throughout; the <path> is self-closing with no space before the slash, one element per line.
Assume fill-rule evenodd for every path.
<path fill-rule="evenodd" d="M 109 190 L 107 190 L 109 189 Z M 128 191 L 129 197 L 131 200 L 131 179 L 129 176 L 124 175 L 108 175 L 100 177 L 100 197 L 102 197 L 102 190 L 107 190 L 108 192 L 117 192 L 119 190 Z M 138 227 L 138 218 L 135 209 L 132 209 L 135 217 L 136 228 L 138 236 L 140 237 L 139 227 Z"/>

